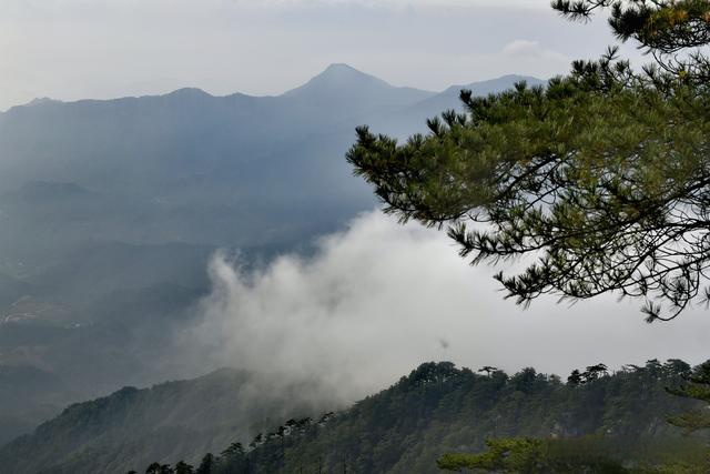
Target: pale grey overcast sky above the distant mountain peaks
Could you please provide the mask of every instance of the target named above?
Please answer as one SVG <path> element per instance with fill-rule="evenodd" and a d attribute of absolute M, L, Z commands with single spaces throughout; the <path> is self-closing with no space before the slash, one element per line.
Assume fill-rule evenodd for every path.
<path fill-rule="evenodd" d="M 506 73 L 547 78 L 612 42 L 548 0 L 2 0 L 0 110 L 164 93 L 277 94 L 345 62 L 443 90 Z M 631 52 L 633 50 L 631 49 Z"/>

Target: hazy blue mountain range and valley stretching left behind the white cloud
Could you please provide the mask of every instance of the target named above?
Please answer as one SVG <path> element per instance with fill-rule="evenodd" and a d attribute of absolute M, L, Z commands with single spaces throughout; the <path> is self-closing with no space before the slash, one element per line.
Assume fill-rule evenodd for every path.
<path fill-rule="evenodd" d="M 540 83 L 468 88 L 523 79 Z M 307 252 L 372 209 L 344 159 L 354 128 L 422 131 L 458 107 L 457 89 L 398 88 L 333 64 L 278 97 L 181 89 L 0 113 L 0 366 L 71 387 L 48 382 L 58 405 L 13 394 L 27 403 L 13 425 L 122 385 L 194 376 L 165 370 L 166 347 L 210 291 L 211 255 L 226 249 L 250 265 Z M 14 386 L 0 379 L 0 391 Z"/>

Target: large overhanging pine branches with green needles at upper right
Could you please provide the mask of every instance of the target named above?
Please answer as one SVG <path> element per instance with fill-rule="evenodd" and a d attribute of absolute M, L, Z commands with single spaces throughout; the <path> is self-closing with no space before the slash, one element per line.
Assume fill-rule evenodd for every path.
<path fill-rule="evenodd" d="M 406 142 L 357 129 L 347 153 L 385 211 L 448 229 L 473 263 L 523 258 L 498 273 L 509 297 L 645 301 L 647 321 L 710 299 L 710 2 L 556 0 L 571 20 L 608 9 L 640 71 L 610 48 L 529 88 L 462 91 L 464 113 Z"/>

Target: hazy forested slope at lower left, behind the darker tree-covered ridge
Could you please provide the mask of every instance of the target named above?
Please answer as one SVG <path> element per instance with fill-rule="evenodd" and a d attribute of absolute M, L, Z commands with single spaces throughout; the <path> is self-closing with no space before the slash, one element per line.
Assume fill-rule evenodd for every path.
<path fill-rule="evenodd" d="M 313 416 L 312 383 L 230 369 L 73 404 L 0 448 L 0 471 L 124 473 L 135 460 L 197 460 L 291 416 Z"/>

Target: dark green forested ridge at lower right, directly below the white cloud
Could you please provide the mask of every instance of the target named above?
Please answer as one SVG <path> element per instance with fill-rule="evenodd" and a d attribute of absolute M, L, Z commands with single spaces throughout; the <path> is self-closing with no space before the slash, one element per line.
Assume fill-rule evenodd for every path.
<path fill-rule="evenodd" d="M 233 445 L 214 460 L 214 473 L 430 473 L 445 454 L 483 452 L 487 440 L 501 437 L 528 440 L 490 441 L 494 452 L 513 446 L 521 463 L 537 460 L 558 472 L 623 472 L 619 460 L 701 462 L 702 440 L 683 438 L 665 421 L 666 413 L 694 406 L 665 391 L 682 382 L 687 364 L 649 361 L 613 374 L 600 365 L 572 386 L 532 369 L 479 375 L 450 363 L 423 364 L 345 412 L 290 420 L 246 450 Z M 456 465 L 468 456 L 443 460 Z"/>

